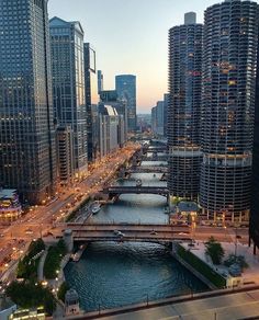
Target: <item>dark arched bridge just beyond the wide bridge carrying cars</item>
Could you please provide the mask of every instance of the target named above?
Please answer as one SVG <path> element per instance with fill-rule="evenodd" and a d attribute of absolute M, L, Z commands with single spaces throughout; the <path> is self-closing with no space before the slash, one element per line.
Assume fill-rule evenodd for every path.
<path fill-rule="evenodd" d="M 103 193 L 114 197 L 121 194 L 158 194 L 169 198 L 169 191 L 164 186 L 130 186 L 130 185 L 114 185 L 103 188 Z"/>

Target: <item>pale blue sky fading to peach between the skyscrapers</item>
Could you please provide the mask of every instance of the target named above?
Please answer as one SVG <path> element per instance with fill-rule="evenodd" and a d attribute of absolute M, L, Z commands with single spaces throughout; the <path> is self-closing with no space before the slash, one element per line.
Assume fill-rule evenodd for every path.
<path fill-rule="evenodd" d="M 183 23 L 185 12 L 204 10 L 217 0 L 49 0 L 49 18 L 80 21 L 85 42 L 97 52 L 104 89 L 115 76 L 137 77 L 137 113 L 150 113 L 168 90 L 168 30 Z"/>

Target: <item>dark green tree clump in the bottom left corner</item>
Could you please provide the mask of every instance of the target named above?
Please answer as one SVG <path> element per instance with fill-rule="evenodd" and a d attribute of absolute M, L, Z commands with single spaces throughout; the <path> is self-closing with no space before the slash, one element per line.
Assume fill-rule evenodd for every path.
<path fill-rule="evenodd" d="M 52 315 L 56 302 L 47 288 L 43 288 L 34 282 L 12 282 L 7 288 L 7 295 L 22 308 L 37 308 L 44 306 L 47 315 Z"/>

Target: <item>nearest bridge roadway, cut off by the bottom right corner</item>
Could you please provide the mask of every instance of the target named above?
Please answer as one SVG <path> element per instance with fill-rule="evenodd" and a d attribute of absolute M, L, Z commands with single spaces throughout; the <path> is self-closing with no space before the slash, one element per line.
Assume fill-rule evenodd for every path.
<path fill-rule="evenodd" d="M 257 318 L 258 317 L 258 318 Z M 104 320 L 241 320 L 259 319 L 259 288 L 194 294 L 132 308 L 100 310 L 70 319 Z M 69 319 L 69 317 L 67 318 Z"/>

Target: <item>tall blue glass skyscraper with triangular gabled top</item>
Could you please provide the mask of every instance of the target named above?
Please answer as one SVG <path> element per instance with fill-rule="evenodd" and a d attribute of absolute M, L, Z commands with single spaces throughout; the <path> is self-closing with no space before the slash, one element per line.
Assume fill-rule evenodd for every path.
<path fill-rule="evenodd" d="M 49 21 L 53 101 L 58 126 L 70 125 L 76 178 L 87 171 L 87 108 L 85 96 L 83 31 L 79 22 L 57 16 Z"/>

